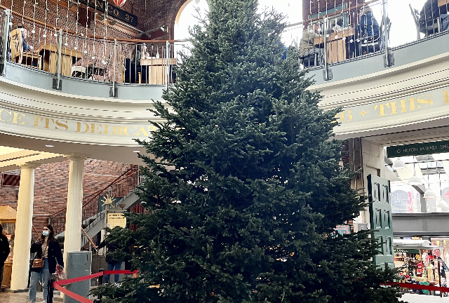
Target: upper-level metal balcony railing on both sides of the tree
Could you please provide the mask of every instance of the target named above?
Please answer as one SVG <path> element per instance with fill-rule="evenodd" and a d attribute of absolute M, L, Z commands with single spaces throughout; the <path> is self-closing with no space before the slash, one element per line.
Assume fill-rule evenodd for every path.
<path fill-rule="evenodd" d="M 422 8 L 401 0 L 327 2 L 283 33 L 302 67 L 324 69 L 325 81 L 332 79 L 330 65 L 383 54 L 389 67 L 394 65 L 391 46 L 431 39 L 448 29 L 449 0 L 423 0 Z M 173 66 L 189 51 L 187 42 L 114 39 L 95 20 L 88 34 L 87 27 L 58 27 L 6 10 L 0 13 L 1 55 L 55 75 L 55 89 L 61 76 L 112 84 L 110 96 L 116 96 L 117 83 L 168 87 L 176 81 Z"/>

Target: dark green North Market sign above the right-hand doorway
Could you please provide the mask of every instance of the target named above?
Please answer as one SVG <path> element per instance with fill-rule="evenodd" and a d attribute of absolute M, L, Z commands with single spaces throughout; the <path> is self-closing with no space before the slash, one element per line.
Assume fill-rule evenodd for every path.
<path fill-rule="evenodd" d="M 425 142 L 387 147 L 387 157 L 418 156 L 449 152 L 449 141 Z"/>

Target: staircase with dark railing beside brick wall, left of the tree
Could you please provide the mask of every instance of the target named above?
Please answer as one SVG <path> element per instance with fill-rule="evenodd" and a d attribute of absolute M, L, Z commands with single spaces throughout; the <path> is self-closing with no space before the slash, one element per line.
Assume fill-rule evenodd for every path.
<path fill-rule="evenodd" d="M 128 210 L 140 202 L 136 189 L 140 181 L 139 167 L 131 166 L 107 187 L 83 198 L 81 248 L 105 228 L 107 210 Z M 55 238 L 60 243 L 64 242 L 66 213 L 67 208 L 63 208 L 50 215 L 49 218 L 49 222 L 55 230 Z"/>

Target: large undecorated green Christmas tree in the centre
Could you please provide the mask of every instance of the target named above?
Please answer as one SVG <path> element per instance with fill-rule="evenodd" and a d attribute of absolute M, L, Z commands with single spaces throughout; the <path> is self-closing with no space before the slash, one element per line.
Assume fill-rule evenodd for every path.
<path fill-rule="evenodd" d="M 155 103 L 166 122 L 140 142 L 147 213 L 109 235 L 141 276 L 99 288 L 103 302 L 398 302 L 369 232 L 334 233 L 364 199 L 331 140 L 340 109 L 319 108 L 294 50 L 283 60 L 283 18 L 257 0 L 208 2 Z"/>

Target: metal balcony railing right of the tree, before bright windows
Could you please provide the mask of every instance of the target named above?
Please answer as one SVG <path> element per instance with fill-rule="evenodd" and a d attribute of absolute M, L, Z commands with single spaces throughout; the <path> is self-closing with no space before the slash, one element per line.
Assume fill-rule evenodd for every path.
<path fill-rule="evenodd" d="M 330 2 L 309 20 L 287 29 L 297 29 L 297 36 L 289 40 L 297 45 L 302 66 L 324 67 L 326 80 L 332 77 L 328 68 L 330 64 L 383 54 L 384 67 L 388 67 L 394 65 L 391 46 L 431 39 L 448 30 L 449 0 L 423 1 L 420 11 L 401 0 Z M 302 32 L 299 30 L 301 27 Z M 406 34 L 411 34 L 412 38 L 407 38 L 410 35 Z M 391 37 L 396 39 L 394 43 L 391 43 Z"/>

